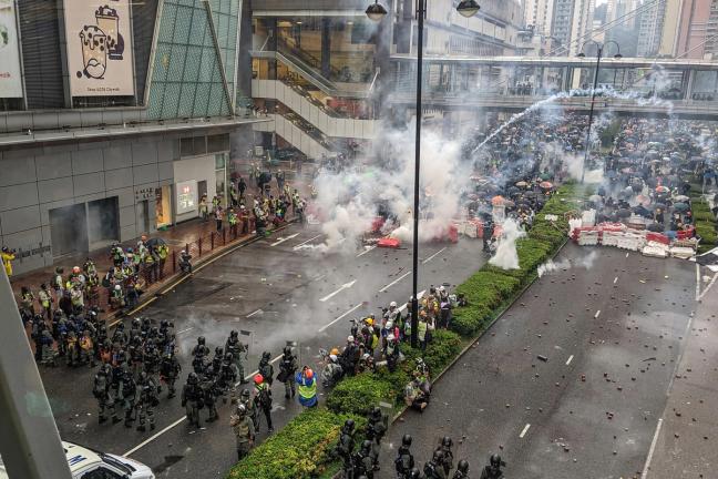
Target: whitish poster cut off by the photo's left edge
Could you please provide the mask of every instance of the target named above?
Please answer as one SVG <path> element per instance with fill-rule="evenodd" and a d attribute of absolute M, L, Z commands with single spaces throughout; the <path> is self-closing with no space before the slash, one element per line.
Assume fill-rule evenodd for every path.
<path fill-rule="evenodd" d="M 0 0 L 0 98 L 22 98 L 14 0 Z"/>

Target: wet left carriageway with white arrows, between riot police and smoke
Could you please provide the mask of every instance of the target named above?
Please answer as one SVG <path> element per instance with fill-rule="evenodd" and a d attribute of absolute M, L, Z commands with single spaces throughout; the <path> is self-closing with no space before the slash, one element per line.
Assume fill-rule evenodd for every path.
<path fill-rule="evenodd" d="M 206 336 L 214 349 L 224 346 L 230 329 L 252 332 L 244 338 L 250 343 L 246 374 L 256 369 L 263 350 L 278 356 L 287 340 L 298 340 L 301 361 L 315 364 L 320 347 L 345 343 L 352 317 L 378 313 L 382 304 L 409 297 L 410 249 L 321 255 L 301 248 L 321 241 L 319 231 L 291 226 L 203 268 L 141 312 L 155 323 L 174 319 L 184 366 L 181 383 L 191 370 L 188 350 L 199 335 Z M 481 266 L 480 249 L 481 243 L 476 241 L 422 246 L 420 285 L 462 282 Z M 193 430 L 182 419 L 184 411 L 178 398 L 164 397 L 153 434 L 125 429 L 121 424 L 100 426 L 91 395 L 92 375 L 84 368 L 42 371 L 64 439 L 111 452 L 130 452 L 150 465 L 158 477 L 223 477 L 234 463 L 228 406 L 219 409 L 218 422 L 199 430 Z M 277 428 L 299 412 L 300 407 L 285 400 L 284 390 L 276 384 L 274 396 Z M 206 411 L 203 415 L 206 417 Z M 158 437 L 152 439 L 155 435 Z"/>

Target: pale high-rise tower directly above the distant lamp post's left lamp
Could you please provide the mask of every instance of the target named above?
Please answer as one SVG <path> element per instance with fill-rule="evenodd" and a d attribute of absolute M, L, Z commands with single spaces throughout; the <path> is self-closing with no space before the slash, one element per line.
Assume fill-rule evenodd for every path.
<path fill-rule="evenodd" d="M 552 35 L 563 45 L 562 53 L 576 55 L 591 39 L 595 0 L 554 0 Z"/>

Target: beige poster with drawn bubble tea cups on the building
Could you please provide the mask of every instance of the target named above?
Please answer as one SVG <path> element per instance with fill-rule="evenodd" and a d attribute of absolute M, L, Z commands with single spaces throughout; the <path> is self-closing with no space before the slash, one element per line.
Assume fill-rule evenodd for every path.
<path fill-rule="evenodd" d="M 64 0 L 72 96 L 134 94 L 130 0 Z"/>

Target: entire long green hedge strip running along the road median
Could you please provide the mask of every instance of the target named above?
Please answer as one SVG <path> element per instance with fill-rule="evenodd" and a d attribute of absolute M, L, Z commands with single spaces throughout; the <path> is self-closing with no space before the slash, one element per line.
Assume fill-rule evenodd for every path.
<path fill-rule="evenodd" d="M 516 244 L 520 269 L 504 271 L 486 264 L 459 285 L 457 292 L 465 295 L 469 305 L 457 308 L 451 330 L 433 332 L 425 351 L 402 345 L 406 360 L 393 373 L 380 367 L 375 374 L 345 378 L 327 396 L 327 408 L 302 411 L 238 462 L 227 478 L 308 479 L 330 476 L 337 470 L 330 451 L 343 421 L 352 417 L 363 424 L 366 414 L 380 401 L 401 407 L 403 387 L 411 378 L 418 357 L 423 358 L 434 375 L 445 369 L 466 342 L 475 338 L 495 317 L 499 308 L 534 277 L 538 265 L 557 251 L 565 240 L 562 232 L 568 227 L 564 214 L 578 210 L 574 198 L 588 194 L 581 185 L 560 187 L 536 215 L 527 237 Z M 545 221 L 544 214 L 557 215 L 560 230 Z"/>

